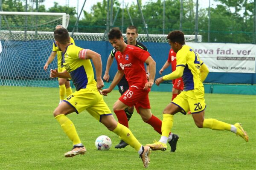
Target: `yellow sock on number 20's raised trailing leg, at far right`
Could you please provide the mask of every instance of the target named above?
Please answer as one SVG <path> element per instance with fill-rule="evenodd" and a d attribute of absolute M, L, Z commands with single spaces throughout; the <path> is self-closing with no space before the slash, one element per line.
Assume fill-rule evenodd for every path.
<path fill-rule="evenodd" d="M 212 130 L 228 130 L 231 131 L 231 125 L 216 119 L 204 119 L 203 128 Z"/>

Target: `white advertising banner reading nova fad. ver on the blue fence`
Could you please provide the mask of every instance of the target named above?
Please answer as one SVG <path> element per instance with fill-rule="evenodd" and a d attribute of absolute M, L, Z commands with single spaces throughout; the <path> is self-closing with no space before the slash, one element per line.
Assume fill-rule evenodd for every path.
<path fill-rule="evenodd" d="M 256 45 L 186 42 L 208 66 L 210 72 L 255 73 Z"/>

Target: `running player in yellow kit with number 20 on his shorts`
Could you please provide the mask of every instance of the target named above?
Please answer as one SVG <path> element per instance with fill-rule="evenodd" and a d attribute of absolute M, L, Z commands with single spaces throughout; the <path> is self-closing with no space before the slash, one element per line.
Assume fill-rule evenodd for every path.
<path fill-rule="evenodd" d="M 241 136 L 246 142 L 249 137 L 240 123 L 230 125 L 216 119 L 204 119 L 206 108 L 204 100 L 204 77 L 201 75 L 202 61 L 199 55 L 188 45 L 185 45 L 185 38 L 182 31 L 172 31 L 168 34 L 167 39 L 173 50 L 177 53 L 176 70 L 171 74 L 158 78 L 155 83 L 159 85 L 164 80 L 172 80 L 182 77 L 184 82 L 184 91 L 182 91 L 173 101 L 166 106 L 163 111 L 162 136 L 159 142 L 147 144 L 152 150 L 166 150 L 167 137 L 172 129 L 173 115 L 181 112 L 186 114 L 191 111 L 195 125 L 199 128 L 209 128 L 212 130 L 228 130 Z M 203 69 L 205 70 L 205 69 Z"/>

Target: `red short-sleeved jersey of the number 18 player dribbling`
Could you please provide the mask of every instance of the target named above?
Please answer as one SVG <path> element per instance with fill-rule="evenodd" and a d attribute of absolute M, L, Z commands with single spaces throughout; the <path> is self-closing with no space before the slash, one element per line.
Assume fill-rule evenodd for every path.
<path fill-rule="evenodd" d="M 148 82 L 144 62 L 150 56 L 148 51 L 133 45 L 127 45 L 124 52 L 117 51 L 115 54 L 117 68 L 125 73 L 129 86 L 144 88 Z"/>

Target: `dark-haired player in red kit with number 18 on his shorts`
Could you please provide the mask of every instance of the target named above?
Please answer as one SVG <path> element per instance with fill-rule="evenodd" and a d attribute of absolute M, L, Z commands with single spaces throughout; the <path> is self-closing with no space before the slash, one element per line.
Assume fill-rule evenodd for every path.
<path fill-rule="evenodd" d="M 117 51 L 115 57 L 118 71 L 109 88 L 102 90 L 102 94 L 107 96 L 120 79 L 122 79 L 123 75 L 125 75 L 129 89 L 119 97 L 113 106 L 113 111 L 116 113 L 118 122 L 128 127 L 128 120 L 124 109 L 134 105 L 143 121 L 151 125 L 154 130 L 161 134 L 162 122 L 151 113 L 148 98 L 148 93 L 154 83 L 156 62 L 152 59 L 148 51 L 125 44 L 119 28 L 112 28 L 108 34 L 108 39 Z M 144 62 L 149 67 L 149 80 L 146 77 Z M 172 152 L 176 150 L 177 140 L 178 136 L 170 133 L 168 141 Z"/>

